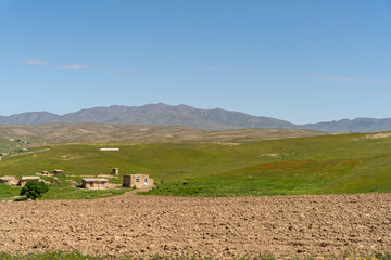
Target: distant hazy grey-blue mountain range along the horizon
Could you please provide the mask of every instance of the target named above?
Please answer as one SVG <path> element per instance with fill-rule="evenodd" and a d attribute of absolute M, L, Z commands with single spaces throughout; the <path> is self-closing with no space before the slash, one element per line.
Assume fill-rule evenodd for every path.
<path fill-rule="evenodd" d="M 150 126 L 185 126 L 206 130 L 250 128 L 310 129 L 325 132 L 380 132 L 391 130 L 391 118 L 356 118 L 339 121 L 294 125 L 272 117 L 252 116 L 220 108 L 201 109 L 187 105 L 172 106 L 163 103 L 143 106 L 93 107 L 65 115 L 48 112 L 27 112 L 0 116 L 0 125 L 48 122 L 103 122 Z"/>

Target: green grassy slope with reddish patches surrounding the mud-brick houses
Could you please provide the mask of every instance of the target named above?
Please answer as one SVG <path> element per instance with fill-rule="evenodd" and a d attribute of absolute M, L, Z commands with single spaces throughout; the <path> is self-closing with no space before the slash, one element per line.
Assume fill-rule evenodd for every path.
<path fill-rule="evenodd" d="M 377 136 L 377 135 L 370 135 Z M 119 147 L 119 152 L 99 152 Z M 49 148 L 45 151 L 45 148 Z M 391 192 L 391 138 L 320 135 L 222 145 L 214 143 L 66 144 L 5 156 L 0 176 L 33 176 L 63 169 L 43 198 L 94 198 L 125 188 L 86 191 L 71 186 L 81 176 L 150 174 L 159 185 L 148 194 L 178 196 L 261 196 Z M 16 187 L 0 188 L 0 197 Z"/>

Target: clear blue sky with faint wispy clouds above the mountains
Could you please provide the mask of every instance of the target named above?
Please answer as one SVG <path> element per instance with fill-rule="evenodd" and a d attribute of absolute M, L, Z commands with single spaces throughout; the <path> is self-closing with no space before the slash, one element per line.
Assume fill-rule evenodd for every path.
<path fill-rule="evenodd" d="M 0 0 L 0 115 L 391 117 L 391 0 Z"/>

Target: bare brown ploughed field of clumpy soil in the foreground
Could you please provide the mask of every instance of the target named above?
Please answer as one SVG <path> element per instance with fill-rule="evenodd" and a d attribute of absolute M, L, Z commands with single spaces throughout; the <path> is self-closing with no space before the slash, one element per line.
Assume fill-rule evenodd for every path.
<path fill-rule="evenodd" d="M 391 194 L 0 203 L 0 250 L 341 256 L 391 249 Z"/>

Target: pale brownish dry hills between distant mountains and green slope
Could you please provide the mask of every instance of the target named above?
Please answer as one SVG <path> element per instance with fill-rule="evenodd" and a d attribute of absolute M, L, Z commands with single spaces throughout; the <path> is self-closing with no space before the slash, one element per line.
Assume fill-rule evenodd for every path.
<path fill-rule="evenodd" d="M 41 123 L 0 126 L 1 139 L 28 141 L 26 147 L 60 143 L 254 142 L 323 135 L 313 130 L 241 129 L 207 131 L 189 127 L 135 126 L 127 123 Z M 16 144 L 14 142 L 14 144 Z M 1 153 L 1 146 L 0 146 Z"/>

